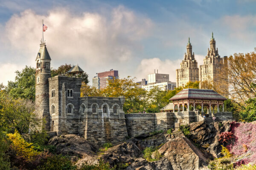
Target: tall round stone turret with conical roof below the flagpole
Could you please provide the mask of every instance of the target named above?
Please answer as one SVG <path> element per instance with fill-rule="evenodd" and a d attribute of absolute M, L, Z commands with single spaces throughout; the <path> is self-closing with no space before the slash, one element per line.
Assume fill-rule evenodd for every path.
<path fill-rule="evenodd" d="M 35 72 L 35 113 L 38 118 L 45 119 L 45 129 L 49 131 L 49 82 L 51 77 L 50 63 L 51 58 L 45 43 L 41 42 L 36 61 Z"/>

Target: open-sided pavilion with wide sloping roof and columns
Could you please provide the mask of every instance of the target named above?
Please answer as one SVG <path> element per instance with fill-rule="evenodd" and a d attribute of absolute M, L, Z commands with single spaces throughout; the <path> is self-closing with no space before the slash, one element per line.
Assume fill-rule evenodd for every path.
<path fill-rule="evenodd" d="M 214 112 L 215 106 L 217 106 L 217 112 L 220 112 L 219 108 L 221 106 L 222 112 L 224 112 L 224 101 L 227 98 L 210 89 L 183 89 L 169 100 L 172 101 L 173 110 L 178 112 L 181 108 L 184 111 L 184 107 L 187 108 L 187 111 L 195 111 L 195 107 L 201 105 L 202 112 L 204 112 L 204 106 L 206 106 L 209 113 L 211 113 L 211 107 Z M 189 110 L 189 106 L 193 110 Z"/>

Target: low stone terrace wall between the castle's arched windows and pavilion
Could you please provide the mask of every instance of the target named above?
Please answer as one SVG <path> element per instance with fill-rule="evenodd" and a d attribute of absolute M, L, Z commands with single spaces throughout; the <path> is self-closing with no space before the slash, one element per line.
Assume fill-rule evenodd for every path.
<path fill-rule="evenodd" d="M 125 121 L 129 137 L 174 127 L 171 112 L 125 114 Z"/>

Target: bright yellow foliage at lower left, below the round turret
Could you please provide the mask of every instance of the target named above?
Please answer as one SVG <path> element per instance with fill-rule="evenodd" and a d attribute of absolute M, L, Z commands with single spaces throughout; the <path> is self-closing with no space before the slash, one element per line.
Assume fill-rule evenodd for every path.
<path fill-rule="evenodd" d="M 12 142 L 11 149 L 15 150 L 16 156 L 23 157 L 27 161 L 33 161 L 40 152 L 34 150 L 32 143 L 26 142 L 20 135 L 20 133 L 15 130 L 15 133 L 7 134 L 9 140 Z"/>

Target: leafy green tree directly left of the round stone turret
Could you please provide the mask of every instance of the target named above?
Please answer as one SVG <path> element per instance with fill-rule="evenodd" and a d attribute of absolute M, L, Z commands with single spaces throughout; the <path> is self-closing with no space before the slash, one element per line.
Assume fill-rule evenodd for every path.
<path fill-rule="evenodd" d="M 14 98 L 25 98 L 35 101 L 35 68 L 26 66 L 16 71 L 15 81 L 8 81 L 6 92 Z"/>

